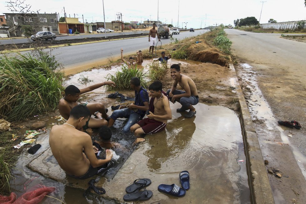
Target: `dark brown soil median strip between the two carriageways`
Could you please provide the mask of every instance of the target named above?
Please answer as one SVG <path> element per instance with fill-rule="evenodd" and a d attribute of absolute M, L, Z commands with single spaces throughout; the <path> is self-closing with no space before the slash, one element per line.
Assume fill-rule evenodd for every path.
<path fill-rule="evenodd" d="M 120 38 L 135 38 L 143 36 L 143 34 L 132 34 L 132 35 L 118 35 L 118 36 L 108 36 L 107 40 L 120 39 Z M 105 37 L 101 36 L 99 38 L 79 38 L 79 39 L 69 39 L 69 40 L 43 40 L 43 41 L 31 41 L 28 43 L 18 43 L 18 44 L 6 44 L 0 45 L 0 51 L 10 50 L 10 49 L 24 49 L 33 48 L 35 46 L 54 46 L 54 45 L 69 45 L 72 43 L 85 43 L 105 40 Z"/>

